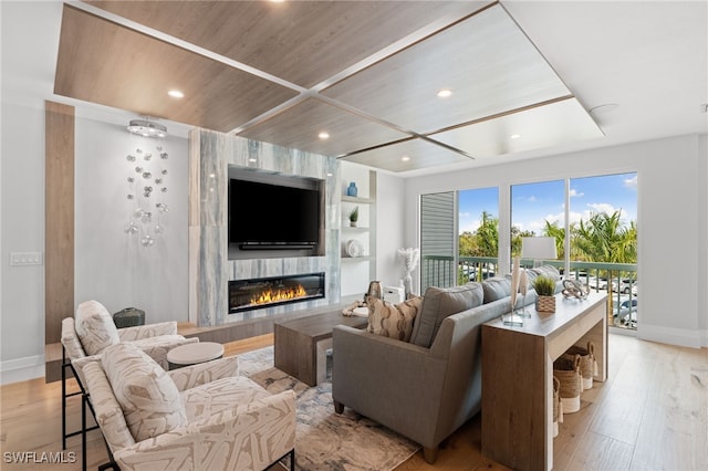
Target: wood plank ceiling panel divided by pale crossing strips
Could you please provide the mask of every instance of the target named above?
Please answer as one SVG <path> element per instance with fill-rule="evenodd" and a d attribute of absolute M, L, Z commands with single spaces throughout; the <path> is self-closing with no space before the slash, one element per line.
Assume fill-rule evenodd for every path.
<path fill-rule="evenodd" d="M 602 136 L 486 1 L 65 4 L 54 92 L 397 172 Z"/>

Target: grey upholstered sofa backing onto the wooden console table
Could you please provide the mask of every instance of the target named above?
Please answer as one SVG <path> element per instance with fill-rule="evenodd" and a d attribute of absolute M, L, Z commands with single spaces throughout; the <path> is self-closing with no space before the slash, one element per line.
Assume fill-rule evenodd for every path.
<path fill-rule="evenodd" d="M 530 281 L 539 273 L 560 281 L 552 266 L 529 271 Z M 429 287 L 409 342 L 336 326 L 335 411 L 350 407 L 419 443 L 426 461 L 435 462 L 440 442 L 481 408 L 480 326 L 510 311 L 509 295 L 508 276 Z M 529 290 L 524 303 L 535 299 Z"/>

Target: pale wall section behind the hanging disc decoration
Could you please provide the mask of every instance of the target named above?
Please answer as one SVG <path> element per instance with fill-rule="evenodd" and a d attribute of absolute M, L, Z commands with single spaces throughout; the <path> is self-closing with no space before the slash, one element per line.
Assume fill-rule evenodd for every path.
<path fill-rule="evenodd" d="M 110 313 L 138 307 L 150 324 L 187 321 L 188 140 L 171 136 L 150 139 L 129 134 L 125 125 L 81 117 L 75 134 L 75 303 L 97 300 Z M 157 146 L 168 154 L 167 159 L 158 156 Z M 152 158 L 146 161 L 136 153 L 138 148 L 143 155 L 152 153 Z M 128 161 L 128 154 L 137 160 Z M 153 178 L 136 174 L 136 166 L 152 171 Z M 158 176 L 163 169 L 167 175 Z M 138 191 L 135 200 L 128 200 L 127 195 L 135 193 L 129 176 L 135 177 L 138 189 L 152 186 L 152 196 L 145 198 Z M 162 185 L 155 184 L 156 177 L 162 177 Z M 167 192 L 162 192 L 162 187 Z M 159 217 L 163 234 L 154 232 L 157 201 L 169 209 Z M 138 206 L 153 213 L 152 223 L 137 223 L 155 238 L 149 248 L 140 244 L 139 234 L 124 232 Z"/>

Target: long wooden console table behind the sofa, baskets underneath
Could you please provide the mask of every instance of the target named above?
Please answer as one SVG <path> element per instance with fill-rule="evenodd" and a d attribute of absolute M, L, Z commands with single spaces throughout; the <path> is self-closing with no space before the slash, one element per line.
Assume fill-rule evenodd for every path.
<path fill-rule="evenodd" d="M 553 468 L 553 360 L 572 345 L 595 344 L 607 378 L 607 294 L 565 300 L 555 313 L 527 306 L 523 327 L 482 325 L 482 454 L 514 470 Z"/>

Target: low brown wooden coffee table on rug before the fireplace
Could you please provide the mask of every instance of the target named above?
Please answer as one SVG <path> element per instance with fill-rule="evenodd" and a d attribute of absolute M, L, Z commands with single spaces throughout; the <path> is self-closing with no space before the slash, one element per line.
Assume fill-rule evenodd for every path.
<path fill-rule="evenodd" d="M 335 325 L 366 327 L 368 318 L 345 316 L 342 310 L 274 323 L 275 368 L 309 386 L 326 377 L 326 350 Z"/>

